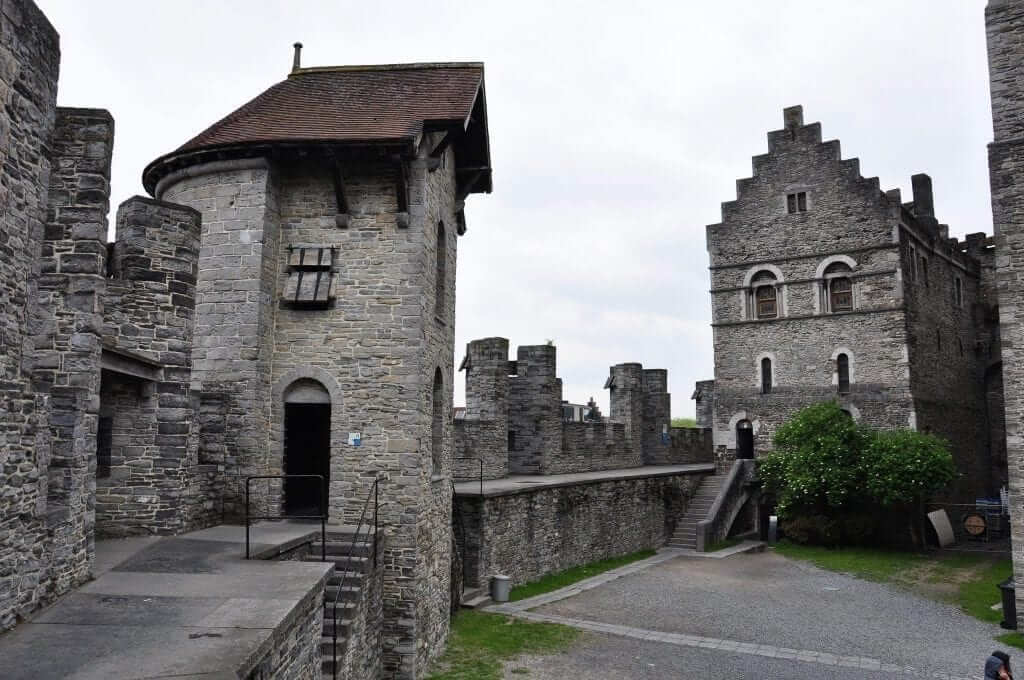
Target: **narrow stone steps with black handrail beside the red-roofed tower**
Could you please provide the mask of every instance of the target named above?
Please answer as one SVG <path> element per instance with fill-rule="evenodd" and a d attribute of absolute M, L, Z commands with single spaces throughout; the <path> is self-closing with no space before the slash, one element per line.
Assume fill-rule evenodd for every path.
<path fill-rule="evenodd" d="M 321 635 L 322 673 L 324 678 L 334 677 L 334 660 L 337 652 L 338 664 L 345 653 L 352 624 L 358 615 L 362 599 L 364 581 L 370 573 L 370 556 L 373 552 L 373 535 L 364 533 L 359 541 L 352 545 L 352 534 L 330 533 L 327 540 L 327 561 L 334 563 L 334 573 L 327 583 L 324 601 L 324 630 Z M 303 561 L 321 561 L 321 542 L 312 544 Z M 344 583 L 343 583 L 344 582 Z M 337 603 L 335 603 L 337 598 Z M 334 633 L 338 632 L 337 647 Z"/>

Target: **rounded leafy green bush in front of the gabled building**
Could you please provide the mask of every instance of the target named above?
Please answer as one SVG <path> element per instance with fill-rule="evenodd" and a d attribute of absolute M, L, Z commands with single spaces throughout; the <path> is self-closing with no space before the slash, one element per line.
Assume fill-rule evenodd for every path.
<path fill-rule="evenodd" d="M 883 516 L 918 507 L 955 476 L 943 439 L 859 426 L 835 401 L 799 411 L 774 442 L 758 469 L 798 543 L 869 542 Z"/>

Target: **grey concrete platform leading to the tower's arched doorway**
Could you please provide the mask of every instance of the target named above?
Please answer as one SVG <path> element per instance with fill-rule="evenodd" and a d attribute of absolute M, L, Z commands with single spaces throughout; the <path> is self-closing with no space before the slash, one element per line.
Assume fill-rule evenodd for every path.
<path fill-rule="evenodd" d="M 268 522 L 251 539 L 272 553 L 311 536 L 318 524 Z M 244 551 L 243 526 L 98 541 L 94 581 L 0 636 L 0 677 L 246 677 L 334 567 Z"/>

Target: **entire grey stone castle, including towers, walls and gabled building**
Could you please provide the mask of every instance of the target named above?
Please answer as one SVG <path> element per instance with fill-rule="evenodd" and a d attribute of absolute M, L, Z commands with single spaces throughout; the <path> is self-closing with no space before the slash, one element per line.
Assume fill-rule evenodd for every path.
<path fill-rule="evenodd" d="M 994 242 L 949 239 L 926 175 L 912 201 L 883 193 L 787 109 L 708 227 L 715 380 L 683 431 L 639 364 L 611 367 L 608 420 L 563 422 L 555 348 L 510 359 L 503 338 L 467 347 L 454 418 L 457 246 L 492 189 L 482 65 L 303 68 L 296 45 L 284 81 L 144 169 L 152 198 L 109 244 L 114 120 L 56 107 L 56 31 L 3 3 L 0 630 L 87 581 L 97 538 L 323 504 L 354 524 L 379 494 L 353 653 L 423 677 L 460 580 L 753 526 L 751 459 L 825 398 L 948 438 L 957 496 L 1009 482 L 1024 583 L 1024 2 L 986 17 Z M 311 611 L 310 640 L 341 627 Z M 322 648 L 302 649 L 294 676 L 314 677 Z"/>

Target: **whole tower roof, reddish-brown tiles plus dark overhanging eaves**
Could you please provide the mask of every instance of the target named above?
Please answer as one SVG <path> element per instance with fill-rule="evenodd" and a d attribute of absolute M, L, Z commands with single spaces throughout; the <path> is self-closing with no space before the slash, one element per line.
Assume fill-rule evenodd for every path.
<path fill-rule="evenodd" d="M 262 154 L 276 144 L 409 145 L 425 127 L 456 133 L 459 165 L 490 190 L 483 65 L 398 63 L 298 69 L 143 171 L 146 189 L 176 168 Z M 460 158 L 461 157 L 461 158 Z"/>

